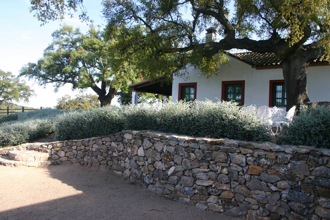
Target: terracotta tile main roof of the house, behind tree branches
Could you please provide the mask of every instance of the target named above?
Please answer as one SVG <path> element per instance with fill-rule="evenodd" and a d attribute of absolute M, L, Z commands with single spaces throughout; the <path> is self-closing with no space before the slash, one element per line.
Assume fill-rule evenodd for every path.
<path fill-rule="evenodd" d="M 277 58 L 274 53 L 257 53 L 257 52 L 243 52 L 233 53 L 230 56 L 245 62 L 252 67 L 276 67 L 281 65 L 281 59 Z M 325 55 L 318 59 L 313 60 L 310 64 L 327 64 L 330 59 L 326 58 Z"/>

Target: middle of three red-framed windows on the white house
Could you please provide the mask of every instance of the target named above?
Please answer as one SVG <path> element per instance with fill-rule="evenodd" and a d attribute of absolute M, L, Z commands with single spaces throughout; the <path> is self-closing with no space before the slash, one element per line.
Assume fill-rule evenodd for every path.
<path fill-rule="evenodd" d="M 245 80 L 222 81 L 221 100 L 234 100 L 238 105 L 244 105 Z"/>

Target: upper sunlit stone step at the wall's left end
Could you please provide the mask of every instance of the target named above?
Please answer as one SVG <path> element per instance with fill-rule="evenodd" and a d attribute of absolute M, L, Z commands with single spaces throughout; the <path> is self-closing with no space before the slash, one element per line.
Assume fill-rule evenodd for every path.
<path fill-rule="evenodd" d="M 47 161 L 49 159 L 49 153 L 34 150 L 10 150 L 8 157 L 10 160 L 15 161 Z"/>

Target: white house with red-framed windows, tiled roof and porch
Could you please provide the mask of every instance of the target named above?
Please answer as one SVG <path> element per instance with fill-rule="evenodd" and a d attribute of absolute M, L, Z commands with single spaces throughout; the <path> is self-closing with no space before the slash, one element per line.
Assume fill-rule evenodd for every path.
<path fill-rule="evenodd" d="M 211 29 L 212 30 L 212 29 Z M 209 32 L 214 37 L 214 31 Z M 208 36 L 207 36 L 208 38 Z M 180 100 L 235 100 L 240 105 L 286 106 L 285 86 L 281 60 L 274 53 L 244 52 L 229 56 L 229 65 L 220 73 L 206 78 L 199 70 L 188 67 L 189 76 L 173 76 L 171 85 L 163 85 L 163 77 L 151 82 L 144 80 L 131 84 L 132 104 L 137 103 L 138 92 L 172 96 Z M 323 57 L 310 63 L 307 72 L 307 90 L 311 102 L 330 101 L 330 66 Z"/>

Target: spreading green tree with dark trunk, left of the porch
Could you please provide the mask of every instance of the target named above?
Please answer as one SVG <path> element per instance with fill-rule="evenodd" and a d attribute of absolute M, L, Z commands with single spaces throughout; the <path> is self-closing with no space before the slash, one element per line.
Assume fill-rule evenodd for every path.
<path fill-rule="evenodd" d="M 73 89 L 92 88 L 101 106 L 110 105 L 116 91 L 135 79 L 134 71 L 116 64 L 112 39 L 93 25 L 86 34 L 64 25 L 52 34 L 52 43 L 37 63 L 28 63 L 20 76 L 36 79 L 40 85 L 54 83 L 55 91 L 70 83 Z M 116 67 L 116 68 L 115 68 Z"/>

